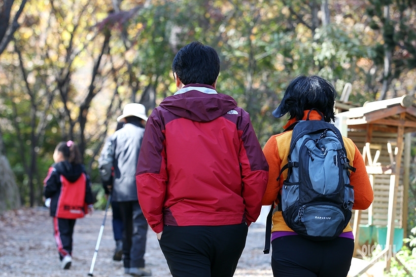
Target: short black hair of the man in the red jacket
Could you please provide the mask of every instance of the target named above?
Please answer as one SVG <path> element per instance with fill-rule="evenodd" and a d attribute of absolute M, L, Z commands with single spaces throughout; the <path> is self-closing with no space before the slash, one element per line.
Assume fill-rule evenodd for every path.
<path fill-rule="evenodd" d="M 214 48 L 192 42 L 179 50 L 172 63 L 182 84 L 213 85 L 220 73 L 220 58 Z"/>

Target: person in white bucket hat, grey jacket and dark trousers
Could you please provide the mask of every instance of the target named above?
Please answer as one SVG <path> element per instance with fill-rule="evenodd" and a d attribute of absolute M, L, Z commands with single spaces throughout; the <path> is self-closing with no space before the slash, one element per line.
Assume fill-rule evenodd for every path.
<path fill-rule="evenodd" d="M 129 103 L 117 117 L 124 122 L 104 145 L 98 159 L 101 179 L 113 176 L 112 201 L 117 202 L 123 221 L 124 272 L 133 276 L 151 276 L 145 267 L 148 223 L 137 199 L 135 172 L 147 122 L 146 108 Z M 113 171 L 112 171 L 113 169 Z M 133 231 L 134 230 L 134 231 Z"/>

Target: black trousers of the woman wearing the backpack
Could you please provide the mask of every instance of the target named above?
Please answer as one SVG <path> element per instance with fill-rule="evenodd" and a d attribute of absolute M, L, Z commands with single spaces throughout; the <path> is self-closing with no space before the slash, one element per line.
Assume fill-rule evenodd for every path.
<path fill-rule="evenodd" d="M 274 277 L 345 277 L 351 266 L 354 240 L 315 242 L 288 235 L 271 242 Z"/>

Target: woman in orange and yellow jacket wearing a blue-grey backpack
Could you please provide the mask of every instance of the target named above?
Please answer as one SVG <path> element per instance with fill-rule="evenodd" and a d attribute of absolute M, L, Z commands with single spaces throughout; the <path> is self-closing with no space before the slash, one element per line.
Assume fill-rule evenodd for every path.
<path fill-rule="evenodd" d="M 278 207 L 271 228 L 273 276 L 340 277 L 350 269 L 354 252 L 351 209 L 367 209 L 373 191 L 357 146 L 327 124 L 335 121 L 335 98 L 336 91 L 328 81 L 299 75 L 272 112 L 277 118 L 288 113 L 289 119 L 284 132 L 271 136 L 263 148 L 269 179 L 262 205 Z M 317 121 L 326 127 L 313 132 Z M 321 139 L 331 136 L 332 142 L 319 145 Z M 339 146 L 329 149 L 338 140 Z M 319 156 L 327 153 L 330 162 L 314 168 Z M 336 170 L 325 171 L 327 164 Z M 328 225 L 331 222 L 337 225 Z"/>

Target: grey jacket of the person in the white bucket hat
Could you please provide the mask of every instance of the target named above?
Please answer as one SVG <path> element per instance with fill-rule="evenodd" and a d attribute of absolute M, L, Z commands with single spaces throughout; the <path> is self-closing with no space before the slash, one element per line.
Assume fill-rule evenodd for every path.
<path fill-rule="evenodd" d="M 108 181 L 113 170 L 113 201 L 137 201 L 135 173 L 144 132 L 144 128 L 126 123 L 102 148 L 98 159 L 100 175 Z"/>

